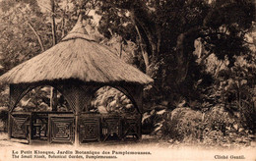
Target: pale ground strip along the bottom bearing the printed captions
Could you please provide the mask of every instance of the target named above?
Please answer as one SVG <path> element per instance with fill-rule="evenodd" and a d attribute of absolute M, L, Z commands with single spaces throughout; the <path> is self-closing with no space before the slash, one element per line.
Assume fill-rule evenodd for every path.
<path fill-rule="evenodd" d="M 251 146 L 218 147 L 170 143 L 149 135 L 136 142 L 70 144 L 26 144 L 0 134 L 0 161 L 9 160 L 249 160 L 256 161 L 256 143 Z M 35 156 L 37 151 L 42 158 Z M 59 152 L 58 152 L 59 151 Z M 48 153 L 53 153 L 54 156 Z M 61 153 L 59 155 L 59 153 Z M 85 154 L 87 153 L 87 154 Z M 32 155 L 31 155 L 32 154 Z M 15 156 L 14 156 L 15 155 Z M 58 155 L 58 156 L 57 156 Z M 32 156 L 32 158 L 28 158 Z M 65 157 L 57 158 L 57 157 Z M 18 158 L 19 157 L 19 158 Z"/>

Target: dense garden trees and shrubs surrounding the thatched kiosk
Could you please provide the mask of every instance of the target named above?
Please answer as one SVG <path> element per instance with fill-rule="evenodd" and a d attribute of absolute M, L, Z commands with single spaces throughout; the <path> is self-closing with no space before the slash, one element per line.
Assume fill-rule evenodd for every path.
<path fill-rule="evenodd" d="M 254 0 L 0 3 L 0 74 L 60 41 L 83 10 L 99 43 L 155 80 L 144 90 L 144 133 L 221 145 L 255 135 Z M 5 84 L 0 94 L 4 120 Z"/>

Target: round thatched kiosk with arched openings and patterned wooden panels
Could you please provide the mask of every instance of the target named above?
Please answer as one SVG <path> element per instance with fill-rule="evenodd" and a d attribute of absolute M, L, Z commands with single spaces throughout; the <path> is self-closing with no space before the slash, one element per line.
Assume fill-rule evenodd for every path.
<path fill-rule="evenodd" d="M 82 19 L 78 20 L 76 26 L 58 44 L 13 68 L 1 76 L 0 80 L 10 83 L 10 137 L 15 137 L 17 134 L 15 131 L 20 131 L 20 135 L 24 134 L 30 142 L 32 141 L 33 114 L 18 114 L 13 113 L 13 110 L 32 88 L 38 85 L 51 85 L 64 95 L 73 114 L 47 114 L 48 140 L 50 142 L 79 141 L 80 143 L 102 140 L 100 136 L 102 132 L 98 130 L 103 126 L 101 125 L 102 116 L 82 114 L 83 109 L 88 111 L 90 106 L 88 102 L 92 99 L 92 94 L 96 89 L 104 85 L 119 89 L 133 101 L 141 114 L 143 85 L 153 81 L 138 69 L 123 62 L 106 46 L 98 44 L 83 27 Z M 139 118 L 141 119 L 141 117 Z M 109 124 L 106 127 L 108 135 L 112 132 L 111 127 L 116 123 L 120 123 L 120 125 L 123 123 L 121 118 L 104 119 L 104 122 Z M 125 119 L 129 120 L 129 117 Z M 133 119 L 130 118 L 130 120 Z M 137 137 L 141 136 L 140 121 L 136 122 L 138 126 L 131 132 Z M 134 122 L 125 124 L 132 125 Z M 64 125 L 69 126 L 65 127 Z M 63 126 L 67 131 L 65 128 L 63 129 Z M 62 127 L 62 130 L 60 131 L 58 127 Z M 75 127 L 74 134 L 72 134 L 73 127 Z M 118 128 L 120 129 L 120 127 Z M 131 126 L 128 129 L 131 129 Z M 128 130 L 125 132 L 121 132 L 119 136 L 123 138 L 129 134 Z M 62 137 L 58 137 L 58 133 L 62 133 Z"/>

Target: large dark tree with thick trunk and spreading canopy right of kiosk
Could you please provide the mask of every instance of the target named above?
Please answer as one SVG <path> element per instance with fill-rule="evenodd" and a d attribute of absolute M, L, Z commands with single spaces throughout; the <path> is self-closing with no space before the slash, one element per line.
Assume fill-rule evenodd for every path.
<path fill-rule="evenodd" d="M 204 61 L 211 54 L 228 59 L 248 51 L 245 34 L 255 21 L 252 0 L 108 0 L 101 4 L 99 31 L 139 39 L 147 73 L 155 79 L 160 99 L 195 97 L 194 87 L 211 82 Z M 195 40 L 205 48 L 194 54 Z M 145 46 L 145 47 L 144 47 Z M 145 51 L 144 51 L 145 50 Z M 164 98 L 165 97 L 165 98 Z M 156 95 L 154 96 L 156 97 Z"/>

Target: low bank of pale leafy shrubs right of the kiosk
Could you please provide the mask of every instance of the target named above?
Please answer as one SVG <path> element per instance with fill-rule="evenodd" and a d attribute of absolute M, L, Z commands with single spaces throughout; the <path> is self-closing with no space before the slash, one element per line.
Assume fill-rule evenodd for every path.
<path fill-rule="evenodd" d="M 159 123 L 159 134 L 172 141 L 203 143 L 205 145 L 250 145 L 249 131 L 242 128 L 222 106 L 202 113 L 187 107 L 165 112 Z"/>

